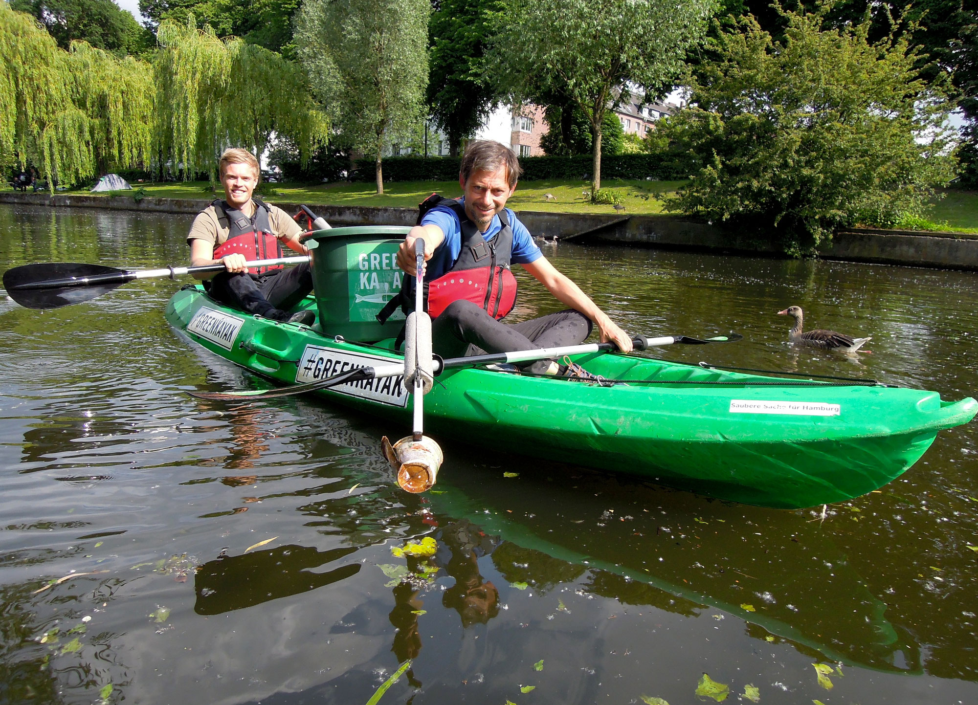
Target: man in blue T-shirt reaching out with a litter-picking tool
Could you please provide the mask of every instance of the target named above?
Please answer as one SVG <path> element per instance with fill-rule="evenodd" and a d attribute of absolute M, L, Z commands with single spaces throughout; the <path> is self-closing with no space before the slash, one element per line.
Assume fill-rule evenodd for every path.
<path fill-rule="evenodd" d="M 424 240 L 424 283 L 432 346 L 442 357 L 576 345 L 598 326 L 602 342 L 622 352 L 632 338 L 576 284 L 560 274 L 533 242 L 506 201 L 521 173 L 516 154 L 489 140 L 469 143 L 462 159 L 458 200 L 432 196 L 422 203 L 419 224 L 401 243 L 397 263 L 410 275 L 400 299 L 413 304 L 414 243 Z M 511 264 L 519 264 L 570 308 L 517 324 L 502 323 L 516 298 Z M 533 374 L 556 374 L 543 360 L 523 366 Z"/>

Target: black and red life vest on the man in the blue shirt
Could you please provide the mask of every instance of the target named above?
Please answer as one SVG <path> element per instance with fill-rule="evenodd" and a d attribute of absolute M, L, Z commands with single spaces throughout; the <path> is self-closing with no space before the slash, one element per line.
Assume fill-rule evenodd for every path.
<path fill-rule="evenodd" d="M 424 304 L 431 318 L 439 316 L 450 303 L 466 299 L 478 305 L 493 318 L 504 318 L 516 303 L 516 278 L 512 276 L 512 227 L 506 210 L 499 213 L 502 229 L 486 242 L 475 224 L 468 219 L 465 206 L 453 198 L 431 194 L 419 206 L 418 224 L 424 214 L 437 205 L 452 209 L 462 225 L 462 250 L 447 268 L 437 262 L 438 253 L 428 261 L 424 275 Z M 447 268 L 448 271 L 445 271 Z M 400 305 L 410 313 L 415 307 L 415 279 L 405 278 L 400 296 L 391 299 L 378 313 L 380 323 Z"/>

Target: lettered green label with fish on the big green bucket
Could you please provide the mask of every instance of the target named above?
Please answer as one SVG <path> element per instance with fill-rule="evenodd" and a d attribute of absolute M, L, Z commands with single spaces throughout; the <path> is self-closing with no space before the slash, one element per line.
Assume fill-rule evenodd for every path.
<path fill-rule="evenodd" d="M 366 242 L 346 245 L 349 273 L 350 321 L 376 321 L 380 309 L 401 290 L 404 272 L 397 266 L 397 242 Z M 391 320 L 403 319 L 398 309 Z"/>

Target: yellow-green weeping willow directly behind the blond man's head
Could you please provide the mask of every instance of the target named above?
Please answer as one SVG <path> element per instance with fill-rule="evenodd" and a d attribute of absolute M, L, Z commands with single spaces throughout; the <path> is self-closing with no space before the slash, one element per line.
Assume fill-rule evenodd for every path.
<path fill-rule="evenodd" d="M 221 152 L 262 154 L 273 133 L 292 140 L 302 158 L 327 136 L 301 66 L 237 37 L 219 39 L 209 25 L 160 22 L 156 76 L 156 145 L 160 164 L 184 178 L 214 180 Z"/>

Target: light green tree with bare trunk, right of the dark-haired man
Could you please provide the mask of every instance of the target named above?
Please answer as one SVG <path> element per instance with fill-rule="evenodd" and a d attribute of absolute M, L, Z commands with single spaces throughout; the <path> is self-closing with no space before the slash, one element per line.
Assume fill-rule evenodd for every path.
<path fill-rule="evenodd" d="M 605 113 L 628 98 L 629 86 L 654 96 L 670 85 L 713 7 L 713 0 L 510 0 L 486 76 L 516 102 L 553 87 L 584 112 L 597 195 Z"/>

